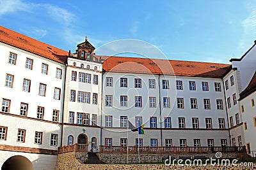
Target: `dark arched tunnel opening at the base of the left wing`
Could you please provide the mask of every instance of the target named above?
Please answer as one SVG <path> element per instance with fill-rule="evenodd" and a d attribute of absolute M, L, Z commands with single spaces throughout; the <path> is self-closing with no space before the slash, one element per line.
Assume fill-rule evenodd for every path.
<path fill-rule="evenodd" d="M 33 165 L 26 157 L 17 155 L 7 159 L 4 162 L 1 169 L 2 170 L 14 170 L 14 169 L 33 170 Z"/>

